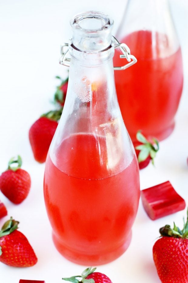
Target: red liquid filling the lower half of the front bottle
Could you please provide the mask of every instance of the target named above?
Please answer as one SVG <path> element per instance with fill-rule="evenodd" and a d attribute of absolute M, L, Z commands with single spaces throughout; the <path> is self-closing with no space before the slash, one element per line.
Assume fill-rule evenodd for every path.
<path fill-rule="evenodd" d="M 53 241 L 78 264 L 112 261 L 131 240 L 140 194 L 138 164 L 134 156 L 122 168 L 123 159 L 108 156 L 109 146 L 102 136 L 75 134 L 59 145 L 55 164 L 47 156 L 44 196 Z"/>

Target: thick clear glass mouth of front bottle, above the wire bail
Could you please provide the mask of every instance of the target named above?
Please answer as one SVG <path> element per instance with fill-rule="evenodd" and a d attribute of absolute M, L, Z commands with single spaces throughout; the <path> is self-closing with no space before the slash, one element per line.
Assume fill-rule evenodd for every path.
<path fill-rule="evenodd" d="M 72 45 L 80 51 L 102 51 L 112 43 L 113 20 L 106 14 L 96 11 L 80 13 L 70 24 Z"/>

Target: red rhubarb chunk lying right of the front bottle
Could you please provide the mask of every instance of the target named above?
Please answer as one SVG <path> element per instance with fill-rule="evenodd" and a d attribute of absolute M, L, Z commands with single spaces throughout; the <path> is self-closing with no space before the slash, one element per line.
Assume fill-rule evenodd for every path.
<path fill-rule="evenodd" d="M 152 220 L 183 210 L 186 206 L 169 181 L 141 190 L 141 199 Z"/>

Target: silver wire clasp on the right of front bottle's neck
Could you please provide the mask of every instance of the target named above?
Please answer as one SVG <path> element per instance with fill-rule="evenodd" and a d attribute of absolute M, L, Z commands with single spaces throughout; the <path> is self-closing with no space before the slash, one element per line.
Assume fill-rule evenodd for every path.
<path fill-rule="evenodd" d="M 130 66 L 134 65 L 137 62 L 137 59 L 136 57 L 134 57 L 134 55 L 131 55 L 129 47 L 125 43 L 119 43 L 116 37 L 114 36 L 112 37 L 114 38 L 114 41 L 116 43 L 114 48 L 119 48 L 123 53 L 120 55 L 120 58 L 126 58 L 127 61 L 129 62 L 124 66 L 114 67 L 114 70 L 125 70 L 126 68 L 129 68 Z"/>

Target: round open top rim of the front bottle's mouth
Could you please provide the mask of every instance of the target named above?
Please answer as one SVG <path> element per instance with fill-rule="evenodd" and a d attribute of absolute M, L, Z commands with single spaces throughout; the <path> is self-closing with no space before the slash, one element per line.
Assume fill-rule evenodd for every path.
<path fill-rule="evenodd" d="M 79 13 L 70 21 L 72 28 L 95 33 L 109 29 L 113 26 L 113 20 L 102 12 L 89 11 Z"/>

